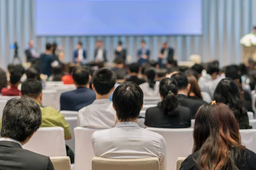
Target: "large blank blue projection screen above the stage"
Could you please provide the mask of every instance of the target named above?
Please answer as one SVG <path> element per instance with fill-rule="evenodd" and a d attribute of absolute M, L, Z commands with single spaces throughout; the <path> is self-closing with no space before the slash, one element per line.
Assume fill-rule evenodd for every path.
<path fill-rule="evenodd" d="M 201 0 L 36 0 L 36 34 L 200 35 L 201 3 Z"/>

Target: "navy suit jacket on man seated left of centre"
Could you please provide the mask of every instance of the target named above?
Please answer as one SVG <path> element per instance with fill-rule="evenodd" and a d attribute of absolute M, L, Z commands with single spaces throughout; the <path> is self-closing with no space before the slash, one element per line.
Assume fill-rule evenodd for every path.
<path fill-rule="evenodd" d="M 96 99 L 95 91 L 90 88 L 77 88 L 61 94 L 61 111 L 79 111 Z"/>

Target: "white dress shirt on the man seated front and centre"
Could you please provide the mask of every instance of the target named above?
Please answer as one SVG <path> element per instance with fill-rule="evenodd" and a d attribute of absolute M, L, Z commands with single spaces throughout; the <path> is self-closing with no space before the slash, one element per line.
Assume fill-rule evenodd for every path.
<path fill-rule="evenodd" d="M 139 127 L 136 122 L 118 122 L 116 126 L 92 135 L 94 154 L 113 159 L 157 157 L 160 169 L 166 169 L 166 142 L 158 133 Z"/>

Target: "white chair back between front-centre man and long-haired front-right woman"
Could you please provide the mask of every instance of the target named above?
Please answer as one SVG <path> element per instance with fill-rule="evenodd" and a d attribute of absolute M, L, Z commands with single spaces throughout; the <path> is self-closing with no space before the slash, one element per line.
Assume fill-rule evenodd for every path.
<path fill-rule="evenodd" d="M 186 157 L 192 153 L 194 144 L 192 128 L 165 129 L 148 127 L 148 130 L 159 133 L 163 136 L 167 146 L 167 169 L 176 168 L 177 157 Z"/>

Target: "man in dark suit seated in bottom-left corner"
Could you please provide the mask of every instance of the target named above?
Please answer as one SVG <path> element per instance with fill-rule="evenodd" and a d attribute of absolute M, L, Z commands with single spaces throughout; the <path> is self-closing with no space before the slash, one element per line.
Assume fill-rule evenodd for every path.
<path fill-rule="evenodd" d="M 10 99 L 3 110 L 2 122 L 1 170 L 54 170 L 48 156 L 22 149 L 42 123 L 40 107 L 34 100 Z"/>

